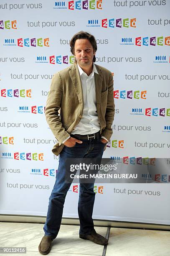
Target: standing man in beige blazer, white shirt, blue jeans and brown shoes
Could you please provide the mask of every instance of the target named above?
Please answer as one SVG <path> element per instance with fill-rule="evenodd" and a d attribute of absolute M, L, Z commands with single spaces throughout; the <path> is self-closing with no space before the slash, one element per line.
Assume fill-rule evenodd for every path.
<path fill-rule="evenodd" d="M 45 236 L 39 252 L 48 254 L 51 241 L 56 238 L 61 225 L 63 205 L 70 183 L 66 183 L 66 159 L 100 159 L 112 136 L 114 98 L 112 73 L 95 65 L 96 40 L 91 34 L 80 31 L 70 41 L 75 62 L 56 73 L 46 103 L 46 120 L 58 140 L 53 153 L 58 155 L 59 166 L 51 196 Z M 58 110 L 61 108 L 60 116 Z M 94 182 L 80 183 L 78 213 L 79 237 L 105 245 L 107 239 L 94 230 Z"/>

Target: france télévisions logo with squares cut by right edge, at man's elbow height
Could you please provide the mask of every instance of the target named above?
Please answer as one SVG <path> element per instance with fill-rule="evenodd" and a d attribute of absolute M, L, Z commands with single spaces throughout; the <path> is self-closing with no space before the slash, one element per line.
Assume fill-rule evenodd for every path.
<path fill-rule="evenodd" d="M 130 115 L 170 116 L 170 108 L 132 108 Z"/>

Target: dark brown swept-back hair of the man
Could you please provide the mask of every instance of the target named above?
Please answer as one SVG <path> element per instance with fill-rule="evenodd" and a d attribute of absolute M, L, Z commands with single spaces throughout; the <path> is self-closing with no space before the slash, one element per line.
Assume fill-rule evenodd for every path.
<path fill-rule="evenodd" d="M 97 44 L 96 44 L 96 39 L 94 36 L 92 36 L 90 33 L 88 32 L 85 32 L 85 31 L 80 31 L 78 33 L 76 33 L 72 38 L 71 38 L 71 41 L 70 41 L 70 51 L 73 55 L 74 54 L 74 45 L 75 45 L 75 42 L 77 39 L 88 39 L 93 47 L 93 50 L 94 52 L 97 51 Z M 94 55 L 93 57 L 93 62 L 96 61 L 96 57 Z"/>

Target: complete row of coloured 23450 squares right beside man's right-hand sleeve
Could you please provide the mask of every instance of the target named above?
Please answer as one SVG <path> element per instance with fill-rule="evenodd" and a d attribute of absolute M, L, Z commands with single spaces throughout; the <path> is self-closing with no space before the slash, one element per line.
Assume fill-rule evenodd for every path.
<path fill-rule="evenodd" d="M 137 90 L 134 92 L 132 90 L 130 90 L 130 91 L 122 90 L 120 92 L 119 92 L 119 90 L 115 90 L 113 92 L 113 97 L 115 99 L 131 99 L 132 100 L 132 98 L 133 98 L 133 99 L 137 99 L 137 100 L 139 100 L 139 99 L 146 100 L 146 94 L 147 94 L 146 90 L 145 91 Z"/>

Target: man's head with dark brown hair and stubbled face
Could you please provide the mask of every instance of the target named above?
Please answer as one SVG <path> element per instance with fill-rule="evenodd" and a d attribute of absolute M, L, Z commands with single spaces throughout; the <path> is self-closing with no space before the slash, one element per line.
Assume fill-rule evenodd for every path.
<path fill-rule="evenodd" d="M 76 58 L 80 67 L 91 66 L 96 61 L 96 39 L 88 32 L 76 33 L 70 41 L 71 53 Z"/>

